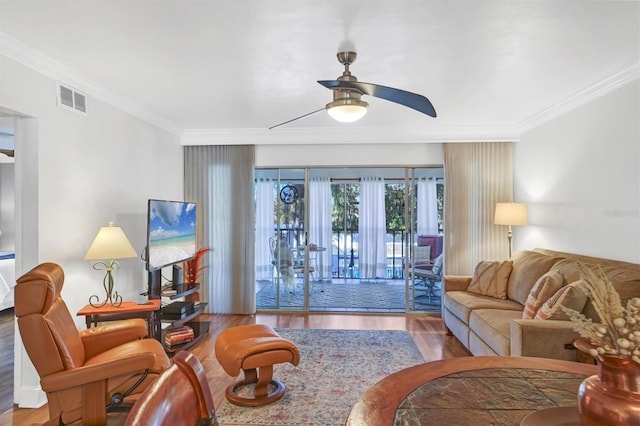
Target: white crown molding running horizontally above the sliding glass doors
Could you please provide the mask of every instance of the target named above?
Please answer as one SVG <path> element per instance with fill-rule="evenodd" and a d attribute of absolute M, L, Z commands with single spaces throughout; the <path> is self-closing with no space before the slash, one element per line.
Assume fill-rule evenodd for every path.
<path fill-rule="evenodd" d="M 182 145 L 317 145 L 517 141 L 511 126 L 433 126 L 429 128 L 287 128 L 268 129 L 188 129 Z"/>

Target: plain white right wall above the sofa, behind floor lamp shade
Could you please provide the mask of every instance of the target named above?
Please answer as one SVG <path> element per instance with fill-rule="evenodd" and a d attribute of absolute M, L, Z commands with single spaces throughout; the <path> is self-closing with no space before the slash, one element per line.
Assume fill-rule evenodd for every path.
<path fill-rule="evenodd" d="M 514 198 L 529 226 L 514 248 L 640 262 L 638 80 L 522 135 Z"/>

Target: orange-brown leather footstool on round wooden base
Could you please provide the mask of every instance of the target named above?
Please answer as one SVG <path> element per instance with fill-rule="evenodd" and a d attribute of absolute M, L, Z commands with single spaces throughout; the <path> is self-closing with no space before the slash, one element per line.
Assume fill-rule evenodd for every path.
<path fill-rule="evenodd" d="M 286 389 L 281 381 L 273 378 L 273 366 L 283 362 L 298 365 L 300 351 L 268 325 L 252 324 L 220 333 L 216 339 L 216 358 L 228 375 L 236 377 L 240 370 L 244 372 L 243 378 L 227 388 L 227 400 L 236 405 L 257 407 L 282 398 Z M 238 395 L 242 386 L 254 383 L 253 398 Z"/>

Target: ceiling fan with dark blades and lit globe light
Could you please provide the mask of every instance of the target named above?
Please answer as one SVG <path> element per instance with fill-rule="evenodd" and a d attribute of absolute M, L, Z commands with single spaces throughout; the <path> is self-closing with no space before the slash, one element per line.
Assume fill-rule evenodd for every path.
<path fill-rule="evenodd" d="M 352 75 L 349 71 L 349 65 L 353 64 L 358 57 L 356 52 L 339 52 L 337 56 L 338 61 L 344 65 L 342 75 L 338 77 L 337 80 L 318 80 L 318 83 L 327 89 L 333 90 L 333 102 L 329 102 L 324 108 L 276 124 L 275 126 L 269 127 L 269 129 L 291 123 L 324 110 L 327 110 L 327 113 L 337 121 L 345 123 L 357 121 L 367 113 L 367 108 L 369 107 L 369 104 L 361 99 L 362 95 L 395 102 L 431 117 L 436 116 L 435 108 L 433 108 L 429 99 L 422 95 L 407 92 L 406 90 L 381 86 L 379 84 L 359 82 L 356 76 Z"/>

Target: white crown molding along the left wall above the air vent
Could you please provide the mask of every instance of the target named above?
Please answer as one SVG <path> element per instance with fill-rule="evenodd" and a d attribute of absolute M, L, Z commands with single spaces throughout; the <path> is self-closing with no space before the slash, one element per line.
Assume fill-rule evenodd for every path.
<path fill-rule="evenodd" d="M 71 70 L 70 68 L 56 62 L 26 44 L 10 37 L 0 31 L 0 54 L 29 68 L 34 69 L 42 75 L 53 80 L 64 82 L 87 95 L 99 99 L 121 111 L 127 112 L 134 117 L 144 120 L 162 130 L 176 136 L 182 134 L 182 129 L 175 123 L 149 111 L 141 105 L 131 100 L 117 95 L 99 84 L 92 82 L 85 76 Z"/>

